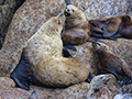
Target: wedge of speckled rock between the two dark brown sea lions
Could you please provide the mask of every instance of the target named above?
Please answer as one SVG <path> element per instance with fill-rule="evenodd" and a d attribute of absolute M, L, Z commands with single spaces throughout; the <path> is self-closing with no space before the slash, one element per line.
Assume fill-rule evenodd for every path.
<path fill-rule="evenodd" d="M 118 41 L 103 40 L 103 42 L 116 55 L 132 63 L 132 40 L 118 38 Z"/>

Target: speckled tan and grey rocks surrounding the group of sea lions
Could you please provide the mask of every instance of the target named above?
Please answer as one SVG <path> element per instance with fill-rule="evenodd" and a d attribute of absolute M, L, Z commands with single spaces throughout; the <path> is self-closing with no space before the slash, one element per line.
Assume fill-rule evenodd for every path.
<path fill-rule="evenodd" d="M 127 0 L 72 0 L 72 3 L 81 9 L 86 13 L 88 20 L 125 14 L 129 6 Z M 3 6 L 3 3 L 1 3 L 0 7 L 1 6 Z M 2 48 L 0 51 L 0 98 L 26 99 L 31 96 L 33 90 L 37 91 L 38 99 L 113 99 L 118 94 L 132 94 L 132 90 L 129 90 L 132 85 L 128 85 L 122 88 L 122 86 L 119 86 L 119 82 L 113 75 L 98 75 L 98 58 L 94 53 L 91 43 L 89 42 L 76 46 L 77 52 L 69 50 L 69 53 L 74 57 L 84 57 L 90 63 L 91 73 L 98 75 L 90 84 L 81 82 L 68 88 L 56 89 L 31 85 L 31 90 L 25 91 L 18 88 L 15 82 L 9 78 L 10 73 L 15 68 L 20 61 L 21 53 L 23 47 L 26 45 L 26 41 L 47 19 L 63 12 L 65 7 L 66 4 L 64 0 L 26 0 L 16 10 L 13 19 L 10 19 L 10 21 L 7 22 L 8 24 L 11 22 L 9 28 L 7 25 L 4 28 L 1 26 L 2 29 L 0 29 L 0 33 L 2 34 L 0 34 L 0 46 L 2 46 Z M 132 12 L 129 14 L 132 16 Z M 6 16 L 2 15 L 2 18 Z M 4 23 L 1 23 L 1 25 L 2 24 Z M 3 32 L 4 30 L 8 30 L 8 32 Z M 129 63 L 132 63 L 132 40 L 118 38 L 118 41 L 102 41 L 108 44 L 116 55 Z M 109 80 L 107 80 L 108 78 Z"/>

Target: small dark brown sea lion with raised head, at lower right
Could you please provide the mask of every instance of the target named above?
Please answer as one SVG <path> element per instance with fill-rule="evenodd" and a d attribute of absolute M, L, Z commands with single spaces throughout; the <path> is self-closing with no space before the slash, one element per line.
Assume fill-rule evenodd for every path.
<path fill-rule="evenodd" d="M 120 77 L 132 79 L 132 70 L 129 65 L 121 57 L 112 53 L 108 45 L 100 42 L 94 42 L 92 47 L 98 54 L 98 68 L 101 73 L 111 73 L 120 80 Z"/>

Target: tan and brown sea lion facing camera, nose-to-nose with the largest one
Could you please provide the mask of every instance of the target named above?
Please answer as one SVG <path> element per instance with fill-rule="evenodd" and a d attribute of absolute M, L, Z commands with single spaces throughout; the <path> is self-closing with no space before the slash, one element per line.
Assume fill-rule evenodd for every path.
<path fill-rule="evenodd" d="M 66 44 L 82 44 L 90 37 L 90 25 L 85 13 L 73 4 L 68 4 L 64 11 L 66 15 L 65 29 L 62 40 Z"/>

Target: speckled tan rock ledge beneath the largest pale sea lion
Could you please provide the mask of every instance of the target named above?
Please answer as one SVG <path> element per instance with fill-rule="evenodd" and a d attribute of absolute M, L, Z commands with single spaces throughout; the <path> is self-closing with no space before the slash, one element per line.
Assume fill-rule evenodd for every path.
<path fill-rule="evenodd" d="M 31 90 L 26 91 L 16 87 L 15 82 L 8 77 L 0 77 L 0 99 L 28 99 L 33 91 L 37 92 L 38 99 L 82 99 L 89 90 L 88 82 L 81 82 L 68 88 L 45 88 L 31 85 Z"/>

